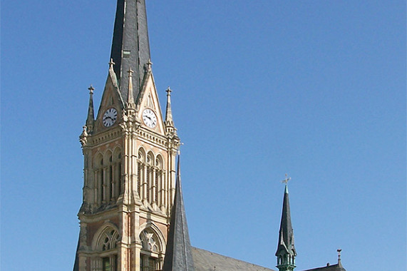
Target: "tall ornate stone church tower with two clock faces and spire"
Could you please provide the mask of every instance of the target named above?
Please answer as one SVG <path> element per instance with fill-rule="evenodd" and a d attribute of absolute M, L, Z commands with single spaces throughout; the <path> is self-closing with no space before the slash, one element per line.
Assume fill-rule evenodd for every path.
<path fill-rule="evenodd" d="M 161 270 L 180 138 L 165 118 L 150 61 L 145 0 L 118 0 L 108 78 L 96 118 L 93 87 L 83 150 L 76 271 Z"/>

